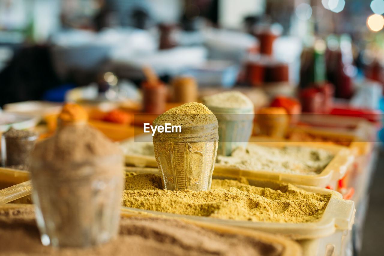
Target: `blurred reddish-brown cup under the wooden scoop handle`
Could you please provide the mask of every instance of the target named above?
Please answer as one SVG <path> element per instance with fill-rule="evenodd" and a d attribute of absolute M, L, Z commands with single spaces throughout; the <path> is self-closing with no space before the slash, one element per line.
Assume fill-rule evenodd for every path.
<path fill-rule="evenodd" d="M 144 81 L 142 92 L 144 112 L 161 114 L 166 110 L 167 90 L 163 83 L 152 85 Z"/>

